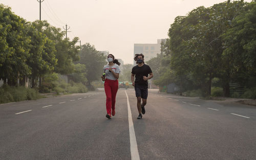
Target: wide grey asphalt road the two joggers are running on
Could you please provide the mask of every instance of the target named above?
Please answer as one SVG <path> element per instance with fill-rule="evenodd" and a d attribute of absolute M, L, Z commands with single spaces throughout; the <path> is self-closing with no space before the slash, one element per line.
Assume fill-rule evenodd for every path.
<path fill-rule="evenodd" d="M 256 159 L 255 106 L 149 90 L 145 109 L 132 89 L 112 119 L 102 89 L 2 104 L 0 159 Z"/>

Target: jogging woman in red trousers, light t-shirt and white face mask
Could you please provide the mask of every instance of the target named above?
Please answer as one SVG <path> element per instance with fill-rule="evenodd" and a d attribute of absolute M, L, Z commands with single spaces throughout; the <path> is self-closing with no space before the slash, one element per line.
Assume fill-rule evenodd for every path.
<path fill-rule="evenodd" d="M 112 54 L 108 55 L 109 64 L 103 67 L 103 75 L 101 76 L 104 83 L 104 89 L 106 94 L 106 118 L 111 119 L 115 116 L 115 103 L 116 103 L 116 93 L 118 90 L 118 78 L 119 78 L 119 65 L 117 59 Z M 112 109 L 112 112 L 111 112 Z"/>

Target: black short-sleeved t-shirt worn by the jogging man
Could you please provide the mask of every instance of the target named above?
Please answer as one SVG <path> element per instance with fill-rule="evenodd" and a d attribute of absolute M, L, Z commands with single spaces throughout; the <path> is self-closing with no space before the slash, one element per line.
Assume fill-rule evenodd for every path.
<path fill-rule="evenodd" d="M 147 86 L 147 80 L 143 80 L 143 76 L 148 76 L 148 74 L 152 73 L 150 66 L 143 64 L 142 66 L 134 66 L 132 70 L 132 74 L 135 75 L 135 85 L 145 85 Z"/>

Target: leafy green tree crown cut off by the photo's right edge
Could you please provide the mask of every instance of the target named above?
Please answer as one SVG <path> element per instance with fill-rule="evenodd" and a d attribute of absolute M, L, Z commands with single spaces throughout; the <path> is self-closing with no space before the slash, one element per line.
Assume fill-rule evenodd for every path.
<path fill-rule="evenodd" d="M 244 5 L 223 33 L 223 59 L 229 61 L 230 78 L 251 88 L 256 81 L 256 1 Z"/>

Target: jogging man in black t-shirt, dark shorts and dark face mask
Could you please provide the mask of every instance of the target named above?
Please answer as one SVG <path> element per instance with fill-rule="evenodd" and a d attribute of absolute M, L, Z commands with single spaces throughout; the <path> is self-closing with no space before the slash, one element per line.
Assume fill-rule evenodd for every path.
<path fill-rule="evenodd" d="M 142 119 L 142 114 L 145 114 L 145 105 L 147 99 L 147 80 L 153 77 L 152 70 L 150 66 L 144 63 L 144 55 L 136 54 L 134 57 L 137 65 L 132 69 L 132 83 L 135 89 L 136 97 L 137 97 L 137 108 L 139 111 L 139 116 L 137 119 Z M 148 76 L 150 74 L 150 76 Z M 134 81 L 135 76 L 135 81 Z M 142 104 L 141 104 L 142 99 Z M 142 113 L 142 114 L 141 114 Z"/>

